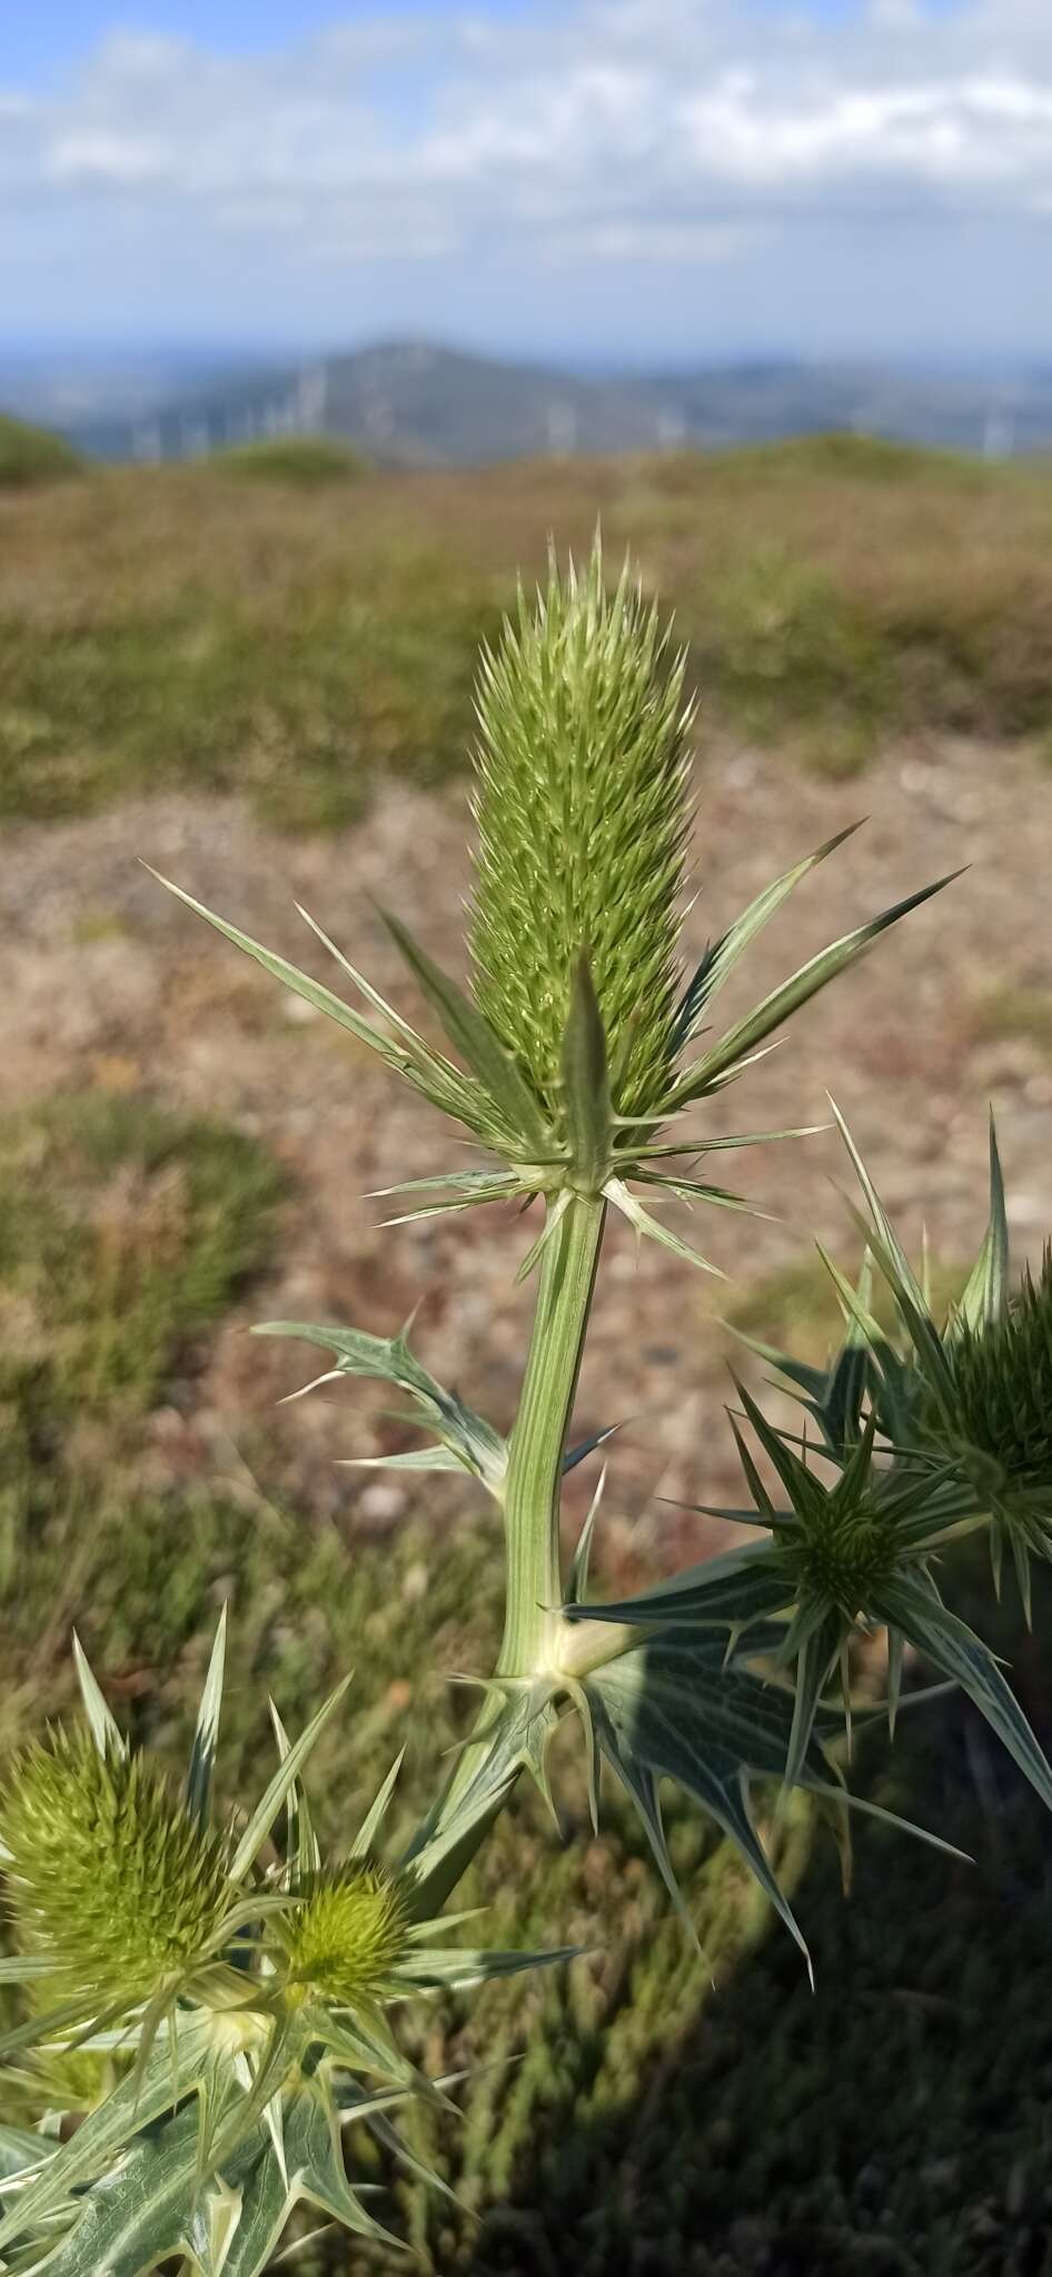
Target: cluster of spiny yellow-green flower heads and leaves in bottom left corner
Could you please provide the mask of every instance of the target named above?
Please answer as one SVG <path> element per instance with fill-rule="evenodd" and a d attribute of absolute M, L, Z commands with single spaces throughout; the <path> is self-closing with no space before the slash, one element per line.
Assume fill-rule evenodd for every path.
<path fill-rule="evenodd" d="M 128 1756 L 80 1653 L 87 1728 L 30 1744 L 0 1794 L 16 1945 L 2 1974 L 32 2008 L 0 2036 L 0 2058 L 27 2052 L 20 2090 L 41 2115 L 80 2120 L 68 2140 L 23 2138 L 0 2266 L 16 2245 L 27 2277 L 169 2257 L 262 2277 L 301 2200 L 392 2243 L 348 2179 L 342 2127 L 373 2124 L 408 2156 L 389 2106 L 444 2097 L 396 2045 L 385 2004 L 556 1958 L 446 1947 L 444 1924 L 414 1915 L 419 1863 L 398 1876 L 373 1858 L 396 1767 L 348 1863 L 323 1863 L 298 1774 L 346 1685 L 296 1742 L 273 1715 L 280 1760 L 264 1794 L 244 1833 L 212 1833 L 223 1637 L 225 1621 L 184 1797 Z M 264 1869 L 282 1815 L 287 1856 Z"/>

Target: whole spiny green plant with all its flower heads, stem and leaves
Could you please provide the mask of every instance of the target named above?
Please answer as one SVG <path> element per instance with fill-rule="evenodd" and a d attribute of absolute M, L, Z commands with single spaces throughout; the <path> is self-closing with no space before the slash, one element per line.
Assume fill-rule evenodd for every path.
<path fill-rule="evenodd" d="M 389 2102 L 444 2093 L 398 2052 L 385 2006 L 428 1986 L 560 1958 L 439 1942 L 442 1908 L 519 1778 L 528 1774 L 551 1792 L 551 1740 L 560 1728 L 578 1733 L 592 1819 L 608 1767 L 688 1926 L 663 1828 L 667 1781 L 729 1835 L 802 1947 L 751 1790 L 815 1797 L 847 1856 L 847 1810 L 858 1797 L 847 1787 L 838 1742 L 852 1712 L 854 1639 L 888 1630 L 890 1719 L 909 1639 L 968 1690 L 1052 1806 L 1052 1769 L 993 1653 L 936 1587 L 936 1564 L 947 1562 L 961 1532 L 1006 1519 L 991 1494 L 991 1460 L 961 1460 L 956 1439 L 931 1423 L 931 1384 L 938 1371 L 950 1373 L 947 1346 L 861 1164 L 874 1218 L 870 1248 L 893 1282 L 911 1339 L 906 1357 L 872 1321 L 865 1280 L 852 1289 L 833 1268 L 847 1314 L 843 1353 L 829 1371 L 783 1362 L 820 1425 L 817 1444 L 806 1432 L 774 1430 L 740 1394 L 733 1428 L 749 1507 L 722 1514 L 745 1519 L 756 1539 L 635 1598 L 597 1603 L 587 1571 L 599 1482 L 569 1571 L 560 1557 L 562 1478 L 606 1437 L 569 1444 L 608 1207 L 676 1257 L 704 1264 L 635 1189 L 656 1200 L 742 1207 L 681 1164 L 761 1134 L 717 1138 L 704 1125 L 683 1127 L 683 1116 L 745 1072 L 799 1004 L 938 888 L 863 922 L 701 1043 L 720 988 L 754 936 L 847 833 L 758 895 L 692 975 L 679 970 L 690 822 L 681 663 L 628 572 L 606 592 L 599 544 L 583 576 L 572 569 L 562 578 L 551 565 L 533 613 L 519 601 L 517 624 L 483 658 L 478 717 L 469 990 L 401 920 L 387 918 L 446 1047 L 387 1004 L 319 927 L 367 1011 L 173 890 L 467 1129 L 483 1164 L 389 1189 L 417 1195 L 410 1214 L 510 1198 L 542 1211 L 524 1266 L 537 1271 L 537 1300 L 508 1439 L 421 1366 L 408 1330 L 383 1339 L 328 1323 L 262 1325 L 262 1334 L 321 1348 L 330 1362 L 323 1382 L 394 1382 L 428 1444 L 387 1460 L 467 1473 L 499 1505 L 506 1621 L 496 1664 L 471 1671 L 483 1694 L 478 1719 L 449 1776 L 435 1781 L 410 1840 L 396 1856 L 378 1851 L 392 1769 L 337 1858 L 321 1856 L 301 1790 L 303 1762 L 337 1696 L 291 1746 L 276 1717 L 280 1762 L 262 1801 L 244 1831 L 235 1824 L 214 1835 L 207 1812 L 223 1637 L 180 1806 L 150 1769 L 123 1760 L 82 1664 L 100 1760 L 82 1735 L 57 1733 L 30 1746 L 9 1772 L 0 1812 L 18 1947 L 7 1974 L 30 1988 L 50 1979 L 68 1997 L 43 2015 L 34 1997 L 0 2056 L 109 2054 L 116 2045 L 130 2068 L 59 2147 L 61 2113 L 52 2104 L 41 2136 L 25 2138 L 23 2163 L 18 2145 L 9 2145 L 0 2254 L 11 2270 L 87 2277 L 107 2268 L 139 2277 L 182 2254 L 203 2277 L 253 2277 L 269 2266 L 298 2197 L 378 2236 L 380 2225 L 346 2179 L 342 2127 L 360 2118 L 389 2140 Z M 965 1355 L 956 1359 L 954 1430 L 968 1416 L 968 1448 L 979 1446 L 995 1414 L 1004 1439 L 1004 1384 L 1027 1371 L 1022 1491 L 1034 1496 L 1045 1482 L 1032 1428 L 1047 1362 L 1036 1325 L 1043 1296 L 1027 1284 L 1013 1307 L 1004 1273 L 997 1173 L 991 1230 L 950 1330 Z M 936 1409 L 943 1423 L 947 1403 L 936 1400 Z M 1004 1444 L 997 1460 L 1009 1475 Z M 1034 1530 L 1029 1546 L 1043 1548 L 1043 1535 Z M 836 1667 L 838 1705 L 824 1699 Z M 781 1680 L 786 1669 L 792 1683 Z M 264 1860 L 282 1808 L 287 1844 Z M 936 1835 L 927 1840 L 938 1847 Z M 109 1901 L 96 1920 L 100 1844 L 98 1888 Z"/>

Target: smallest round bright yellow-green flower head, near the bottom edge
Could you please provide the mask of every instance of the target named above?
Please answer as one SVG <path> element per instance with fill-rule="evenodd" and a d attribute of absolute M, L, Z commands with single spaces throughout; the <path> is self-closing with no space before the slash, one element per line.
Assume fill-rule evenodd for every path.
<path fill-rule="evenodd" d="M 373 1865 L 317 1874 L 282 1917 L 289 1972 L 310 1995 L 342 2008 L 383 1999 L 408 1951 L 403 1890 Z"/>

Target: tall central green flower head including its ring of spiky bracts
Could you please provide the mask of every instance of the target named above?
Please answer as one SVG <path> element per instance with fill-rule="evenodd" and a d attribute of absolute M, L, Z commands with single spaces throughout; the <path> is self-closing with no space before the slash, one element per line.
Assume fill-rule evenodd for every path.
<path fill-rule="evenodd" d="M 421 1036 L 305 911 L 367 1011 L 173 888 L 480 1150 L 480 1166 L 378 1189 L 412 1193 L 405 1216 L 544 1198 L 544 1230 L 521 1271 L 578 1198 L 599 1195 L 638 1234 L 706 1264 L 633 1189 L 647 1189 L 647 1200 L 742 1207 L 676 1157 L 799 1134 L 706 1141 L 683 1129 L 683 1113 L 733 1082 L 808 997 L 947 883 L 922 886 L 833 940 L 720 1031 L 713 1006 L 740 956 L 849 831 L 765 886 L 685 977 L 679 927 L 692 704 L 683 681 L 685 651 L 669 647 L 628 565 L 615 592 L 606 590 L 599 537 L 585 572 L 569 565 L 560 574 L 551 556 L 533 606 L 519 587 L 496 649 L 480 658 L 469 988 L 383 913 L 442 1045 Z"/>

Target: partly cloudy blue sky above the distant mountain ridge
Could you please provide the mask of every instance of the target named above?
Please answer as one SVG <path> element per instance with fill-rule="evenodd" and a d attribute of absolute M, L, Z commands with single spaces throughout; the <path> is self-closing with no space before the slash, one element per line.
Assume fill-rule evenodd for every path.
<path fill-rule="evenodd" d="M 0 9 L 0 344 L 1052 357 L 1052 0 Z"/>

